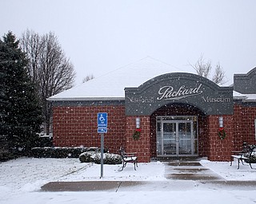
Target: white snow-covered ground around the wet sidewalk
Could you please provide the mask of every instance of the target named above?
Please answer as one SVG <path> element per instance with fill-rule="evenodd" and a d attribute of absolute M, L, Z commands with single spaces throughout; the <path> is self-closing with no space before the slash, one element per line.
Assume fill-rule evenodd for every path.
<path fill-rule="evenodd" d="M 237 169 L 237 163 L 201 161 L 227 181 L 256 181 L 256 169 L 248 164 Z M 255 203 L 256 189 L 239 189 L 234 186 L 218 189 L 210 185 L 182 188 L 182 183 L 165 178 L 165 164 L 160 162 L 139 163 L 134 171 L 132 164 L 118 171 L 121 165 L 104 165 L 104 178 L 100 179 L 100 165 L 80 163 L 78 159 L 31 159 L 22 158 L 0 163 L 0 203 Z M 256 167 L 255 167 L 256 168 Z M 155 189 L 130 187 L 127 191 L 80 191 L 43 192 L 41 186 L 54 181 L 149 181 Z M 157 187 L 158 182 L 173 183 L 172 190 Z M 177 186 L 176 190 L 175 187 Z"/>

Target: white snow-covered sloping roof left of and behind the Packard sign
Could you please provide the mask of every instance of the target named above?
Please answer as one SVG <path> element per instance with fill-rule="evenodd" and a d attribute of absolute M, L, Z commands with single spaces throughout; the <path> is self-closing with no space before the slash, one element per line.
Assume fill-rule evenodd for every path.
<path fill-rule="evenodd" d="M 185 71 L 152 57 L 146 57 L 60 92 L 48 100 L 124 100 L 124 88 L 138 87 L 147 80 L 165 73 L 185 73 Z"/>

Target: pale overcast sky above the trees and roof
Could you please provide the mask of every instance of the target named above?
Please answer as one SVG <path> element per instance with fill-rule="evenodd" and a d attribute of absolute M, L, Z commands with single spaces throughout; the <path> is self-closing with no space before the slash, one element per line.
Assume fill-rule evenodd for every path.
<path fill-rule="evenodd" d="M 234 73 L 256 67 L 255 0 L 0 0 L 0 34 L 54 32 L 82 78 L 150 56 L 193 72 L 203 54 Z"/>

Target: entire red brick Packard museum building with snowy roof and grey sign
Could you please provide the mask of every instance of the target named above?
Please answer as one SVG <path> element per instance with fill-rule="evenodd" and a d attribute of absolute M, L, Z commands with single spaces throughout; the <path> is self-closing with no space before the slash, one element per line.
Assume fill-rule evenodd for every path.
<path fill-rule="evenodd" d="M 228 161 L 243 141 L 255 143 L 255 84 L 256 68 L 220 87 L 146 58 L 51 96 L 54 146 L 100 147 L 97 117 L 107 112 L 104 146 L 110 152 L 126 147 L 138 152 L 139 162 L 183 156 Z"/>

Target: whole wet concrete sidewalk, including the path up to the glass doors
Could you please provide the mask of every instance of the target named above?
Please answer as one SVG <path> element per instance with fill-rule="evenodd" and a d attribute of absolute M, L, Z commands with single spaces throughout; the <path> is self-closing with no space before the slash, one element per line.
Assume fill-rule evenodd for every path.
<path fill-rule="evenodd" d="M 198 161 L 173 161 L 165 163 L 164 181 L 81 181 L 49 182 L 43 191 L 134 191 L 134 190 L 254 190 L 256 181 L 226 181 Z"/>

